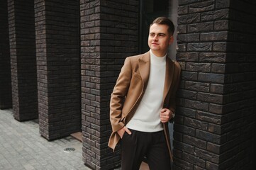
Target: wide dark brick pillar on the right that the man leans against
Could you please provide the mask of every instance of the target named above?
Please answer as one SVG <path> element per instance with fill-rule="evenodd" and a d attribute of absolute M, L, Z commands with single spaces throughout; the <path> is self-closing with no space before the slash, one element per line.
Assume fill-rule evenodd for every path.
<path fill-rule="evenodd" d="M 255 5 L 179 1 L 174 169 L 252 169 Z"/>

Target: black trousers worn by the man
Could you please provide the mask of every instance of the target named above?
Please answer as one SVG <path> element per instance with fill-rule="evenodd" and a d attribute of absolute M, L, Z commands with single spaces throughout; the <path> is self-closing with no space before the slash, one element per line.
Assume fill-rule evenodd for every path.
<path fill-rule="evenodd" d="M 122 170 L 138 170 L 143 158 L 146 157 L 150 170 L 169 170 L 171 162 L 164 131 L 140 132 L 130 130 L 121 140 Z"/>

